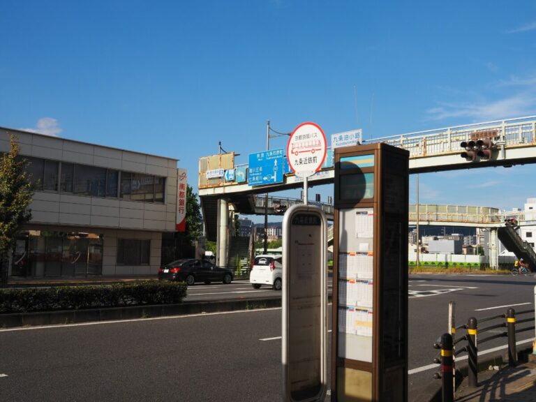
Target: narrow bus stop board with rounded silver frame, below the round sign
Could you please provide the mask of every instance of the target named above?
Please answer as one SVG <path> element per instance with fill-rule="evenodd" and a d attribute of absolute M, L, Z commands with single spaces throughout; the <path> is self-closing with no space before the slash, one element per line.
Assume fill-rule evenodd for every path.
<path fill-rule="evenodd" d="M 327 392 L 327 218 L 292 205 L 283 218 L 283 401 L 320 402 Z"/>

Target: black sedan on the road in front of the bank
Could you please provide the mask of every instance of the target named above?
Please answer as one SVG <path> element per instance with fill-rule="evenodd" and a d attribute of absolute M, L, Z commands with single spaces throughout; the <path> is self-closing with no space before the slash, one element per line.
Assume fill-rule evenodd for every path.
<path fill-rule="evenodd" d="M 193 285 L 195 282 L 215 281 L 228 284 L 232 282 L 233 274 L 230 269 L 216 267 L 209 261 L 185 258 L 170 262 L 158 269 L 158 279 L 160 281 L 184 281 L 188 285 Z"/>

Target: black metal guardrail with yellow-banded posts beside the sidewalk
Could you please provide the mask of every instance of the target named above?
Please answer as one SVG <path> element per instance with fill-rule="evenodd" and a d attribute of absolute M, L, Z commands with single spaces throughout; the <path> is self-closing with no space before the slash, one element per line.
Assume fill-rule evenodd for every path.
<path fill-rule="evenodd" d="M 536 288 L 535 288 L 536 295 Z M 528 318 L 518 320 L 519 315 L 530 314 Z M 497 322 L 502 320 L 502 322 Z M 487 327 L 479 327 L 484 322 L 494 322 Z M 520 324 L 532 322 L 530 327 L 517 327 Z M 454 301 L 449 302 L 449 327 L 450 332 L 442 334 L 439 342 L 433 343 L 433 348 L 440 349 L 440 355 L 433 359 L 434 363 L 440 364 L 440 371 L 435 372 L 433 377 L 442 380 L 443 402 L 454 401 L 455 375 L 456 375 L 456 357 L 466 353 L 468 357 L 468 385 L 469 387 L 478 387 L 478 346 L 482 343 L 493 341 L 497 338 L 508 338 L 508 364 L 511 367 L 517 365 L 516 334 L 527 332 L 535 329 L 535 309 L 515 311 L 514 308 L 508 308 L 506 313 L 492 315 L 484 318 L 471 317 L 466 324 L 454 326 Z M 477 335 L 485 334 L 500 328 L 504 331 L 497 334 L 478 338 Z M 465 329 L 466 334 L 455 338 L 458 329 Z M 462 342 L 466 345 L 456 349 L 456 345 Z"/>

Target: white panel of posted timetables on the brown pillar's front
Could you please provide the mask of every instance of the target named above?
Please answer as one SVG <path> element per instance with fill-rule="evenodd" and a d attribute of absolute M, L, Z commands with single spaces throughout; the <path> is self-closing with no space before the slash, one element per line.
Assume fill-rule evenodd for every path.
<path fill-rule="evenodd" d="M 339 210 L 338 357 L 372 362 L 373 208 Z"/>

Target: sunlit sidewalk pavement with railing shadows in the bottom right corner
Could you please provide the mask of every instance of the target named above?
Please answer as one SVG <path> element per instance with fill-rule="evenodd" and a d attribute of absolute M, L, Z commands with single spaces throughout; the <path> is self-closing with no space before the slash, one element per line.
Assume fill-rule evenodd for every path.
<path fill-rule="evenodd" d="M 456 402 L 523 401 L 536 402 L 536 357 L 516 367 L 502 366 L 498 371 L 478 374 L 479 387 L 468 387 L 464 379 L 457 389 Z"/>

